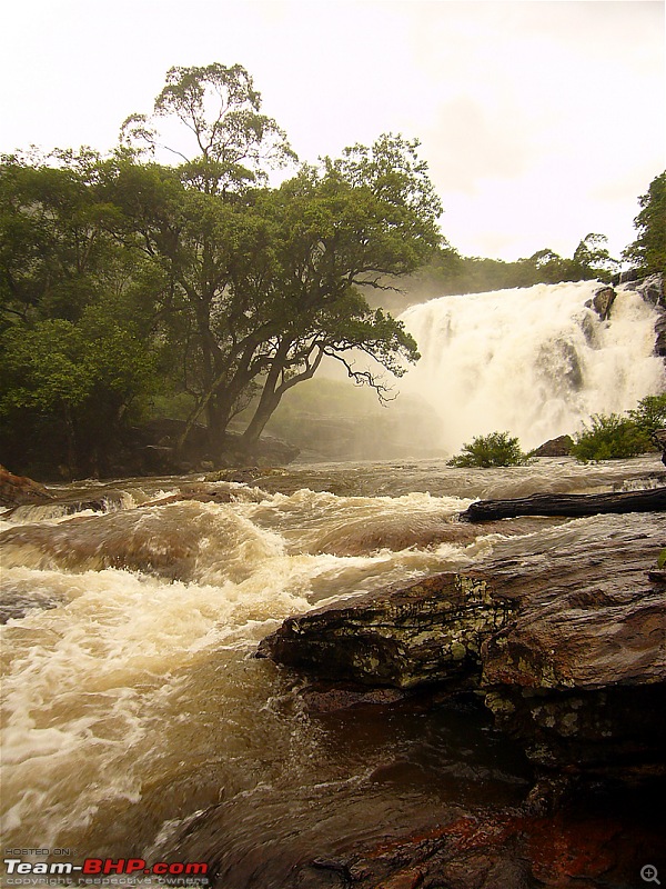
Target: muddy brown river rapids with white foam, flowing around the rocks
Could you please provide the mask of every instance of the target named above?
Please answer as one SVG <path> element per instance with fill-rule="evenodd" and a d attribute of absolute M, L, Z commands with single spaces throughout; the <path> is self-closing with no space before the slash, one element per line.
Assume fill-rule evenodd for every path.
<path fill-rule="evenodd" d="M 270 889 L 303 857 L 519 800 L 526 763 L 477 709 L 313 715 L 256 645 L 289 615 L 491 552 L 505 533 L 457 533 L 477 497 L 650 487 L 663 470 L 297 466 L 219 482 L 228 503 L 168 500 L 195 481 L 168 478 L 68 488 L 99 512 L 6 512 L 3 848 L 206 856 L 215 886 Z"/>

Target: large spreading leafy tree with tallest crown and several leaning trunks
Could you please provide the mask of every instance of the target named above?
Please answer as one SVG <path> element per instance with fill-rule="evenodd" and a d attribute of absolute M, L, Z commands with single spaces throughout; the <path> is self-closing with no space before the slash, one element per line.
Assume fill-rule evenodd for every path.
<path fill-rule="evenodd" d="M 385 136 L 269 188 L 266 164 L 294 156 L 260 108 L 240 66 L 172 69 L 155 114 L 125 122 L 125 143 L 157 152 L 157 124 L 171 117 L 198 153 L 165 168 L 141 163 L 133 148 L 110 180 L 125 237 L 173 282 L 172 321 L 186 331 L 196 387 L 191 422 L 205 412 L 213 447 L 254 396 L 245 441 L 256 441 L 282 394 L 324 356 L 365 352 L 400 374 L 416 346 L 359 288 L 414 270 L 440 240 L 441 206 L 415 142 Z M 356 382 L 385 391 L 376 370 L 342 360 Z"/>

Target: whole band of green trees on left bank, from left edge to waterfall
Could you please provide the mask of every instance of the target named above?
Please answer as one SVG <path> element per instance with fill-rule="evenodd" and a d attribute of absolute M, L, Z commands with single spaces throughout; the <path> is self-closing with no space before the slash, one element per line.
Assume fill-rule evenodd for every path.
<path fill-rule="evenodd" d="M 190 140 L 169 149 L 178 167 L 161 162 L 174 123 Z M 154 113 L 128 118 L 107 159 L 3 158 L 0 443 L 20 455 L 64 422 L 54 459 L 84 468 L 154 393 L 191 407 L 186 431 L 204 416 L 212 451 L 252 403 L 251 444 L 324 357 L 390 399 L 382 373 L 400 377 L 418 352 L 364 292 L 440 243 L 417 142 L 382 136 L 269 187 L 295 160 L 245 69 L 216 63 L 172 68 Z"/>

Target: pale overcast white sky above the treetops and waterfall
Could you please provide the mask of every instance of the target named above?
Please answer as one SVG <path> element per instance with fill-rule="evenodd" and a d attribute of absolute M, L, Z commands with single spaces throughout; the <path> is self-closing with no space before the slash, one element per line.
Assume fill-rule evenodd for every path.
<path fill-rule="evenodd" d="M 618 254 L 666 167 L 662 0 L 17 0 L 0 151 L 113 147 L 167 70 L 240 62 L 302 160 L 422 142 L 468 256 Z"/>

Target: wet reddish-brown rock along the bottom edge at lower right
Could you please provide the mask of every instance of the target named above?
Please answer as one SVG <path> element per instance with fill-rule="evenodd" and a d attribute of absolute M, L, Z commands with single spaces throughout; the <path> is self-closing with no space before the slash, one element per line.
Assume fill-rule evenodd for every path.
<path fill-rule="evenodd" d="M 660 863 L 664 819 L 623 802 L 629 811 L 616 803 L 608 812 L 606 800 L 595 798 L 551 817 L 524 809 L 463 812 L 421 835 L 350 855 L 336 872 L 346 875 L 350 889 L 626 889 L 645 862 Z"/>

